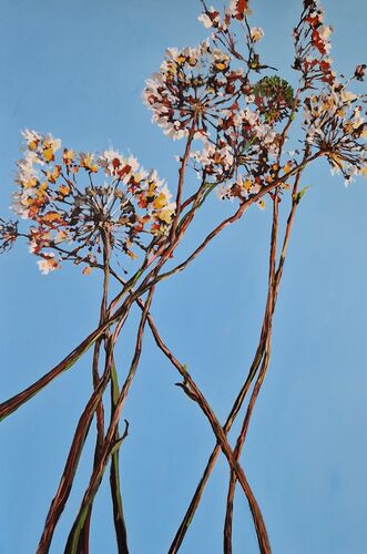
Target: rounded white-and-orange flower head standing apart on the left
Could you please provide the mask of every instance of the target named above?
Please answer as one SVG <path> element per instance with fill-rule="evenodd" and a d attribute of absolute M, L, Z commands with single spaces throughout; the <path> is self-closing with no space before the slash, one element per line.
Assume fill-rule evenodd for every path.
<path fill-rule="evenodd" d="M 41 259 L 43 274 L 62 259 L 98 259 L 103 234 L 111 246 L 132 258 L 132 247 L 167 233 L 175 204 L 155 171 L 146 172 L 133 157 L 106 150 L 99 156 L 61 150 L 61 141 L 26 130 L 26 148 L 18 162 L 13 212 L 27 219 L 29 250 Z M 3 229 L 7 244 L 17 226 Z M 147 237 L 147 238 L 146 238 Z"/>

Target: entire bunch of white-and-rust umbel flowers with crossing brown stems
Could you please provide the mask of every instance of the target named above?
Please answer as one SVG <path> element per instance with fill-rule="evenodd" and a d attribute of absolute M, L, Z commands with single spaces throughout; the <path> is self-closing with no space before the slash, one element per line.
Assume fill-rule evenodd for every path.
<path fill-rule="evenodd" d="M 233 499 L 238 481 L 249 504 L 259 551 L 271 553 L 262 512 L 239 459 L 269 366 L 273 315 L 287 246 L 298 204 L 307 189 L 299 188 L 299 183 L 304 170 L 322 160 L 330 165 L 333 174 L 341 174 L 347 185 L 355 177 L 367 176 L 366 95 L 351 90 L 364 80 L 366 65 L 357 65 L 349 79 L 338 75 L 329 55 L 333 28 L 325 23 L 322 7 L 317 0 L 299 0 L 299 21 L 293 29 L 294 82 L 287 82 L 261 59 L 257 44 L 265 33 L 262 28 L 249 24 L 248 0 L 230 0 L 222 10 L 201 0 L 203 10 L 198 21 L 210 35 L 196 47 L 166 50 L 159 70 L 147 79 L 142 96 L 153 123 L 167 138 L 176 141 L 177 147 L 183 145 L 176 156 L 177 182 L 170 183 L 172 193 L 155 170 L 145 171 L 132 155 L 126 157 L 113 150 L 78 153 L 62 147 L 61 141 L 51 134 L 23 132 L 26 144 L 17 164 L 12 203 L 19 220 L 0 218 L 0 252 L 8 250 L 18 237 L 23 237 L 30 253 L 38 257 L 42 274 L 59 269 L 64 260 L 82 264 L 84 274 L 92 267 L 103 274 L 99 327 L 45 376 L 0 404 L 1 420 L 69 370 L 94 346 L 93 393 L 79 420 L 45 520 L 39 554 L 49 552 L 93 418 L 96 421 L 93 469 L 65 552 L 88 552 L 92 505 L 108 464 L 119 552 L 129 552 L 119 474 L 119 448 L 129 425 L 126 423 L 120 437 L 119 420 L 140 363 L 146 324 L 157 347 L 179 371 L 182 382 L 177 384 L 207 418 L 216 444 L 169 552 L 179 551 L 222 451 L 231 468 L 224 551 L 232 552 Z M 197 179 L 186 179 L 188 172 Z M 212 193 L 220 199 L 231 201 L 234 211 L 220 220 L 186 259 L 177 261 L 176 248 Z M 265 199 L 273 209 L 266 308 L 248 376 L 222 427 L 187 367 L 164 343 L 150 308 L 161 280 L 186 268 L 252 204 L 264 208 Z M 286 202 L 282 203 L 282 209 L 289 207 L 289 212 L 285 228 L 279 229 L 283 199 Z M 129 265 L 129 279 L 124 278 L 129 273 L 124 269 L 125 256 L 134 260 Z M 172 265 L 165 270 L 169 260 Z M 111 278 L 121 287 L 113 299 L 109 288 Z M 142 317 L 131 366 L 125 375 L 122 372 L 120 388 L 114 347 L 135 307 Z M 233 449 L 227 434 L 247 401 L 253 382 Z M 108 384 L 111 384 L 109 424 L 104 419 Z"/>

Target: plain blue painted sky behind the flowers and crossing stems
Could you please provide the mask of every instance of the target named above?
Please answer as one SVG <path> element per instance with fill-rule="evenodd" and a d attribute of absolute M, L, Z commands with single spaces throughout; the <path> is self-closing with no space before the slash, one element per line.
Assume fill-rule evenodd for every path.
<path fill-rule="evenodd" d="M 300 1 L 253 2 L 271 65 L 294 83 L 290 31 Z M 366 61 L 366 4 L 327 0 L 340 72 Z M 9 215 L 20 130 L 52 132 L 75 150 L 113 145 L 176 179 L 172 143 L 142 105 L 144 79 L 166 47 L 205 37 L 197 0 L 2 0 L 0 21 L 0 206 Z M 256 404 L 243 465 L 275 554 L 364 554 L 367 473 L 367 183 L 348 189 L 326 163 L 307 172 L 275 316 L 273 356 Z M 190 186 L 190 184 L 187 185 Z M 284 203 L 285 204 L 285 203 Z M 285 206 L 283 206 L 285 207 Z M 213 198 L 177 254 L 184 259 L 234 205 Z M 259 331 L 271 209 L 252 208 L 183 274 L 164 281 L 152 315 L 162 337 L 224 421 Z M 101 277 L 63 266 L 42 276 L 19 244 L 0 259 L 1 400 L 62 359 L 95 326 Z M 136 325 L 137 314 L 133 317 Z M 134 337 L 119 347 L 123 376 Z M 122 494 L 132 554 L 166 552 L 214 445 L 198 408 L 174 387 L 175 371 L 146 331 L 124 417 Z M 90 357 L 0 425 L 0 553 L 35 551 L 79 416 L 91 393 Z M 94 427 L 93 427 L 94 431 Z M 235 425 L 232 439 L 238 427 Z M 51 553 L 63 552 L 90 474 L 88 440 Z M 220 459 L 182 546 L 222 552 L 228 469 Z M 98 494 L 91 553 L 115 552 L 108 479 Z M 256 553 L 238 490 L 234 552 Z"/>

